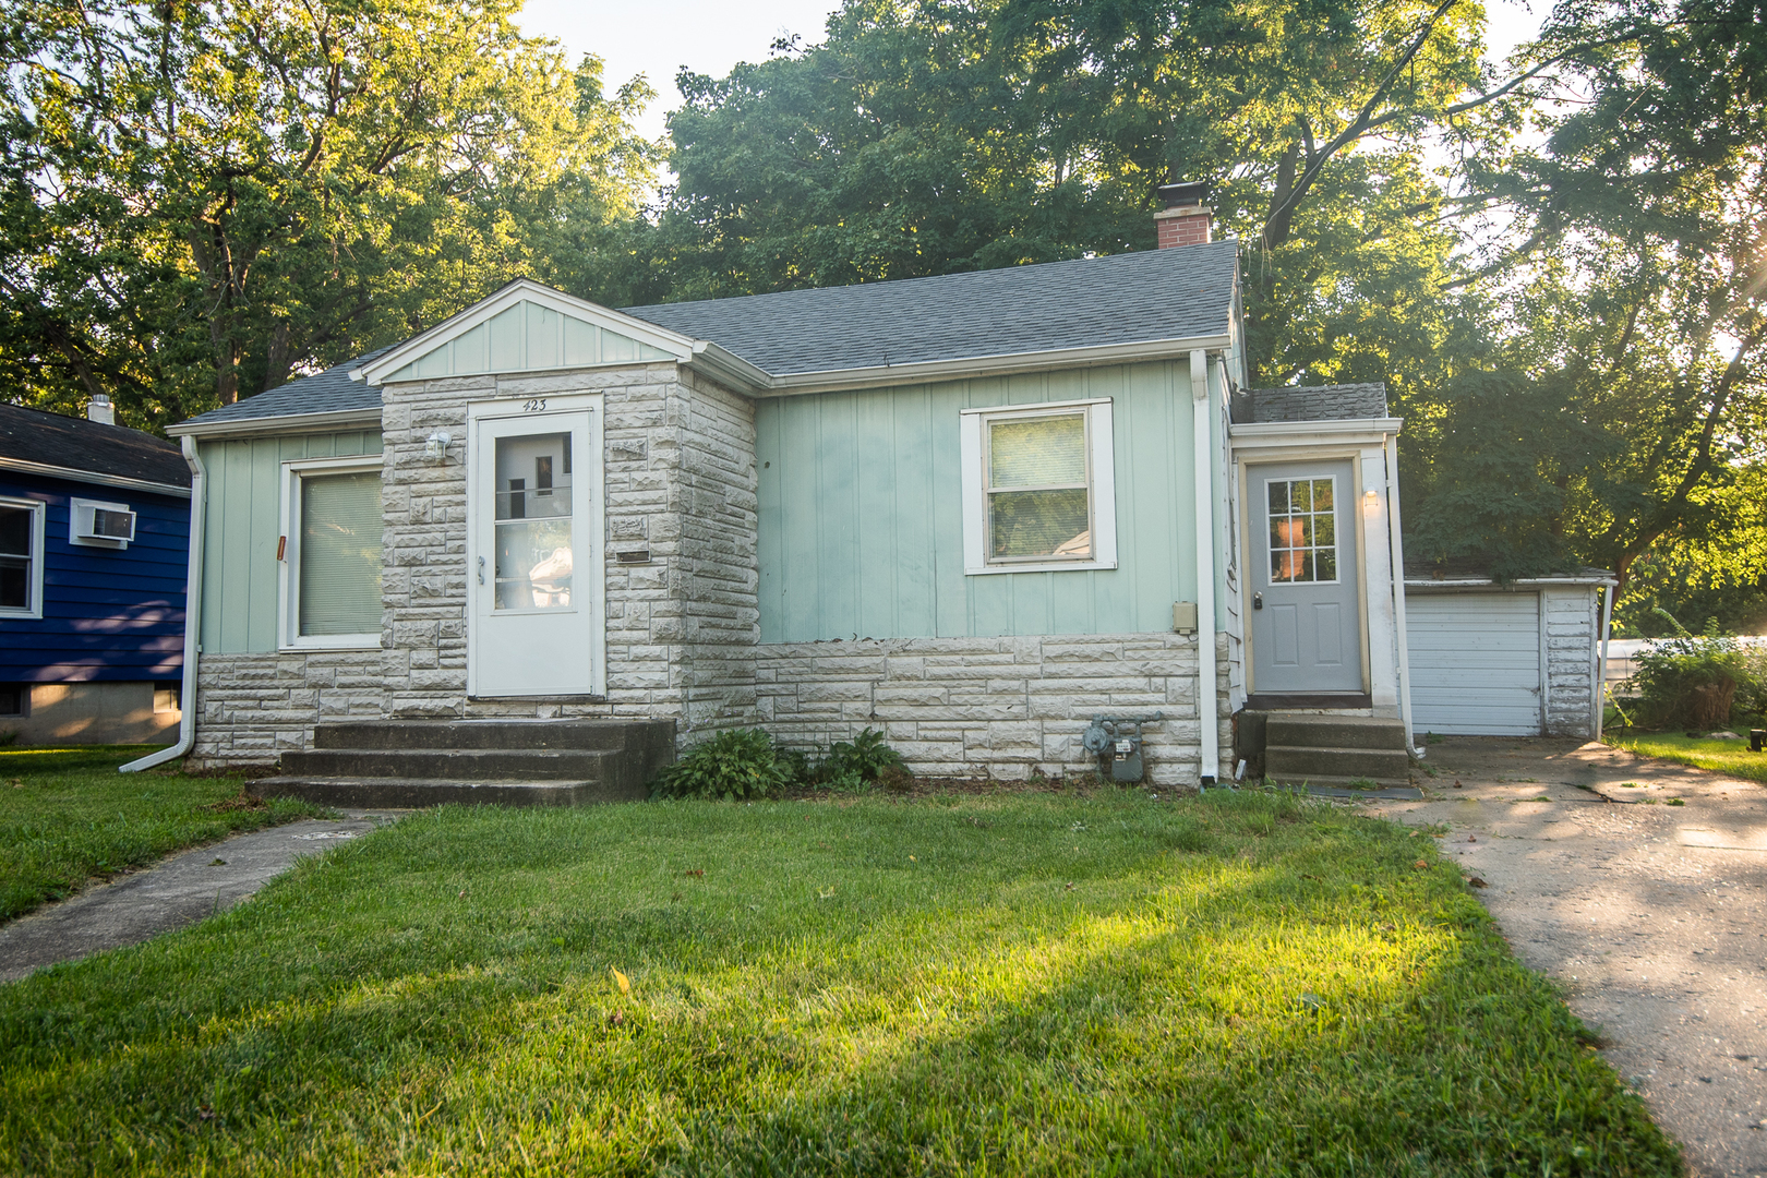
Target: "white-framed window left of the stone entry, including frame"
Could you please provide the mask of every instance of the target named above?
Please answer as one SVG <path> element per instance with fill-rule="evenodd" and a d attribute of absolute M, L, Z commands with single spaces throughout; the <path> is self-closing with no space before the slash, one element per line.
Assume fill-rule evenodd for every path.
<path fill-rule="evenodd" d="M 281 645 L 380 646 L 380 456 L 283 464 Z"/>

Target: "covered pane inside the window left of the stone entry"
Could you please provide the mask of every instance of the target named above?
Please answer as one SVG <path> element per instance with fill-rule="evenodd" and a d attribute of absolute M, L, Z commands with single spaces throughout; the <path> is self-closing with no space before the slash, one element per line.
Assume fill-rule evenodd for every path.
<path fill-rule="evenodd" d="M 300 636 L 380 632 L 380 473 L 300 479 Z"/>

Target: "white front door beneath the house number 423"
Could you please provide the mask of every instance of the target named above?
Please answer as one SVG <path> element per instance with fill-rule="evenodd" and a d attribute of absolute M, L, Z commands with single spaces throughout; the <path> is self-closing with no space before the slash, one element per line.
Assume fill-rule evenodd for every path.
<path fill-rule="evenodd" d="M 604 682 L 599 415 L 599 397 L 470 406 L 470 696 L 588 696 Z"/>

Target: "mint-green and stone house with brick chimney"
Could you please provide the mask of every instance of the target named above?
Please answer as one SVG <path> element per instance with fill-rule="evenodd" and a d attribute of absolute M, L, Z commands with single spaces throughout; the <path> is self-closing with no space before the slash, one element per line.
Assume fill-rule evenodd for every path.
<path fill-rule="evenodd" d="M 626 309 L 518 281 L 175 426 L 193 754 L 869 726 L 1023 777 L 1096 766 L 1106 715 L 1194 786 L 1249 703 L 1403 763 L 1399 422 L 1378 385 L 1249 390 L 1239 247 L 1163 193 L 1145 253 Z"/>

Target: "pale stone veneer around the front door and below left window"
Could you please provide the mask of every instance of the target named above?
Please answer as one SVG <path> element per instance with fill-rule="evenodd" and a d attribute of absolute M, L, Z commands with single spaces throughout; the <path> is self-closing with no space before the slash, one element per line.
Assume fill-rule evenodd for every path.
<path fill-rule="evenodd" d="M 424 457 L 468 401 L 603 394 L 608 694 L 466 699 L 466 468 Z M 755 410 L 673 362 L 389 385 L 382 648 L 203 655 L 198 763 L 267 763 L 329 719 L 677 717 L 682 740 L 755 721 Z M 652 563 L 618 565 L 647 547 Z"/>

